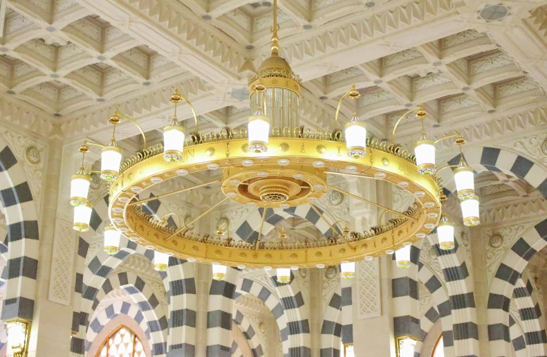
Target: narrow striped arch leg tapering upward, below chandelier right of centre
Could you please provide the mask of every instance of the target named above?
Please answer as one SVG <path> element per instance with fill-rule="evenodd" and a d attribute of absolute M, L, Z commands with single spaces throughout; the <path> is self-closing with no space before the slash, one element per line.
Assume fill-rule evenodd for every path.
<path fill-rule="evenodd" d="M 333 296 L 325 307 L 321 326 L 321 356 L 340 356 L 342 339 L 342 289 L 336 284 Z"/>

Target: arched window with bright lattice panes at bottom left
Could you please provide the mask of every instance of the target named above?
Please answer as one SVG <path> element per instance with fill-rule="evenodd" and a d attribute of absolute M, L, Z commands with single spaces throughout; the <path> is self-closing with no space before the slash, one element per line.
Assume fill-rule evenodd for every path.
<path fill-rule="evenodd" d="M 128 327 L 120 326 L 102 342 L 97 357 L 146 357 L 137 335 Z"/>

